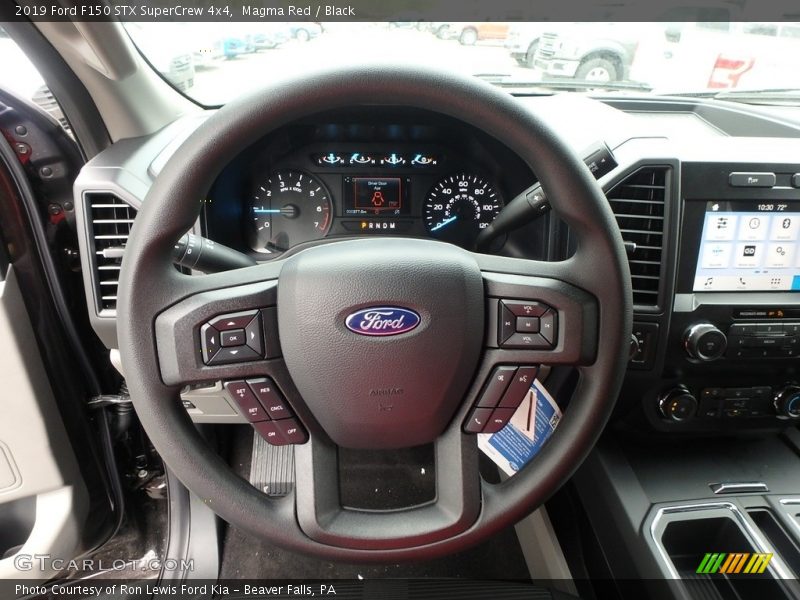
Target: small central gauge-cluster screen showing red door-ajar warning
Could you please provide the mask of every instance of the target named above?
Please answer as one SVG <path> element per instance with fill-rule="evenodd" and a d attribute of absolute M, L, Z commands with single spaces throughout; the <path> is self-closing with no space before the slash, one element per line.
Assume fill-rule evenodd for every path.
<path fill-rule="evenodd" d="M 408 179 L 403 177 L 345 177 L 344 214 L 407 215 L 408 187 Z"/>

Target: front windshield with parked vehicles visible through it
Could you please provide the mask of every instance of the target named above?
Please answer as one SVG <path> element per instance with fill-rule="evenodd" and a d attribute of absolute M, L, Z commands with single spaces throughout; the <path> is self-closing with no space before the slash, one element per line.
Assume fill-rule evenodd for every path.
<path fill-rule="evenodd" d="M 323 65 L 382 60 L 535 90 L 704 93 L 800 88 L 800 23 L 127 23 L 150 64 L 204 105 Z M 669 19 L 674 19 L 670 21 Z M 747 96 L 750 97 L 750 96 Z"/>

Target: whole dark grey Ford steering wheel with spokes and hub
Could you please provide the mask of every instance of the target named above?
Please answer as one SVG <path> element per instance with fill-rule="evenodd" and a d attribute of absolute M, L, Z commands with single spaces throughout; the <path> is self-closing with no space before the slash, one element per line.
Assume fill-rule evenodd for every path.
<path fill-rule="evenodd" d="M 413 107 L 470 124 L 516 152 L 539 177 L 577 249 L 540 262 L 476 254 L 432 240 L 330 241 L 253 267 L 180 273 L 173 244 L 231 157 L 299 118 L 359 105 Z M 498 338 L 503 300 L 557 315 L 552 347 Z M 400 307 L 419 324 L 358 335 L 349 315 Z M 208 366 L 200 328 L 217 315 L 268 309 L 280 347 L 269 359 Z M 122 262 L 117 315 L 128 389 L 145 431 L 177 477 L 219 516 L 287 549 L 347 561 L 428 559 L 516 523 L 577 469 L 616 400 L 631 331 L 630 273 L 598 184 L 534 111 L 477 79 L 418 68 L 356 67 L 303 74 L 231 102 L 183 143 L 143 203 Z M 364 368 L 365 364 L 374 365 Z M 465 433 L 497 365 L 572 365 L 573 397 L 548 442 L 500 484 L 478 472 Z M 203 440 L 180 402 L 183 386 L 270 377 L 308 429 L 294 446 L 294 491 L 270 498 Z M 390 410 L 380 401 L 393 390 Z M 376 396 L 378 397 L 376 399 Z M 436 497 L 402 510 L 341 506 L 337 448 L 433 444 Z"/>

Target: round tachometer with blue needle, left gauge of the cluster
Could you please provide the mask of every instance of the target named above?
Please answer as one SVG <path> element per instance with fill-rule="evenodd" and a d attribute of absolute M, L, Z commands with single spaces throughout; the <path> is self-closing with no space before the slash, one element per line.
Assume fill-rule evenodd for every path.
<path fill-rule="evenodd" d="M 256 186 L 250 207 L 255 226 L 254 248 L 286 250 L 325 237 L 333 208 L 325 185 L 313 175 L 281 170 Z"/>

